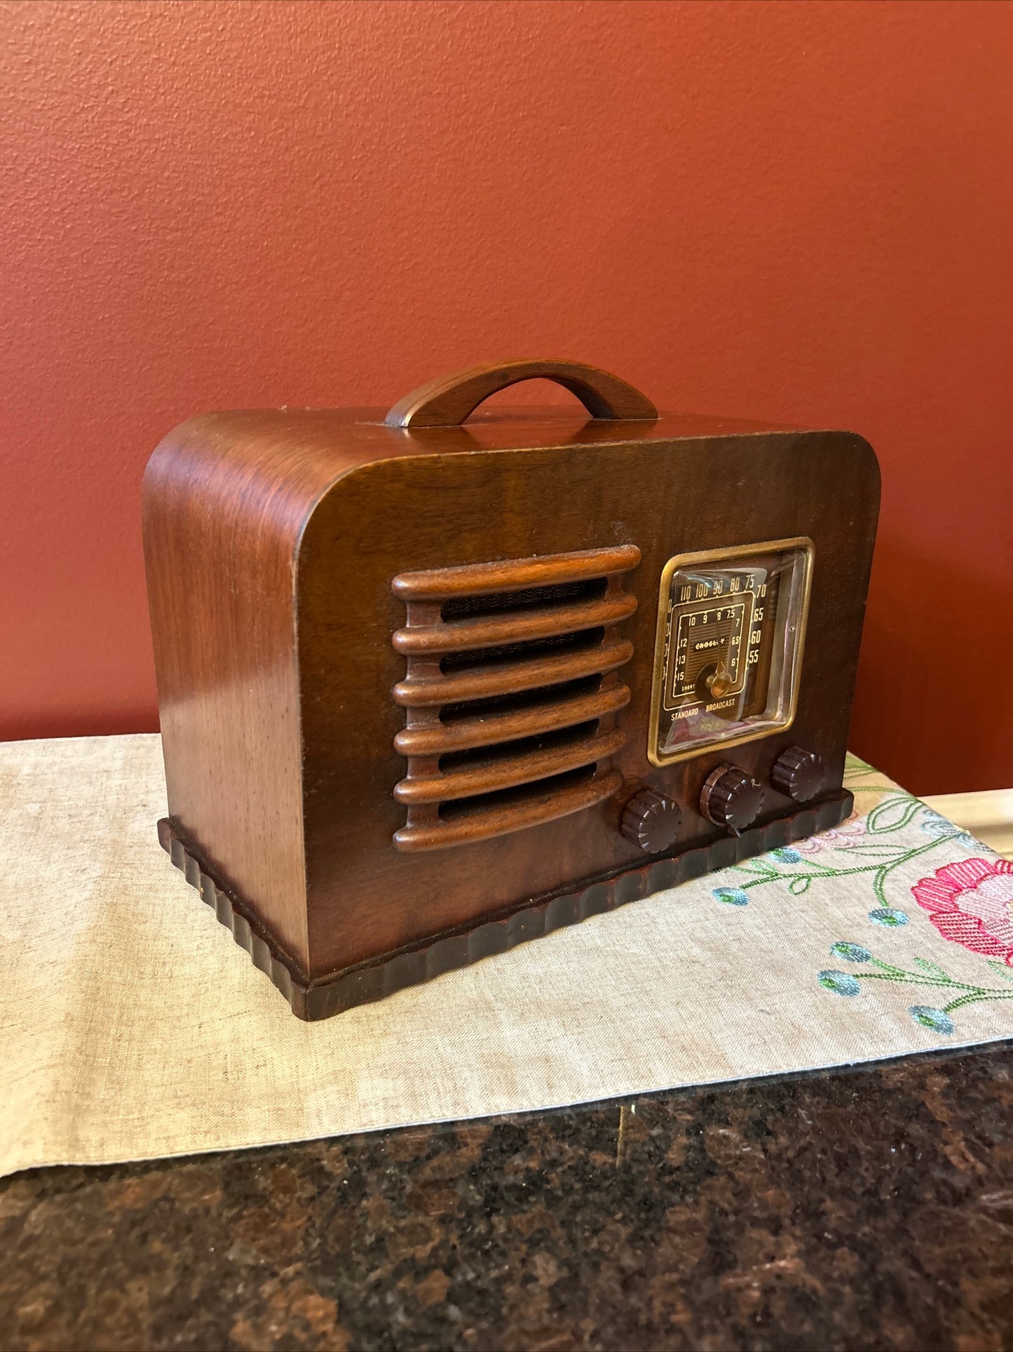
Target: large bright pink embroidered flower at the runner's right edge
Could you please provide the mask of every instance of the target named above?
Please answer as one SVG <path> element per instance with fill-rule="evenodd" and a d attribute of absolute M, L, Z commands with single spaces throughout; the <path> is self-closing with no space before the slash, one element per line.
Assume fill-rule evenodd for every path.
<path fill-rule="evenodd" d="M 1013 864 L 966 859 L 937 868 L 912 888 L 943 938 L 1013 967 Z"/>

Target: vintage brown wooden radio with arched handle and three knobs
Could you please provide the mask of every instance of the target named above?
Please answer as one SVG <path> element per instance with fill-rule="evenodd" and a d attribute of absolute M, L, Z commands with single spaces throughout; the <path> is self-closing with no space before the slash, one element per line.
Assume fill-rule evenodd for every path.
<path fill-rule="evenodd" d="M 466 422 L 529 377 L 592 416 Z M 145 479 L 161 841 L 316 1019 L 833 826 L 878 498 L 860 437 L 565 361 L 193 418 Z"/>

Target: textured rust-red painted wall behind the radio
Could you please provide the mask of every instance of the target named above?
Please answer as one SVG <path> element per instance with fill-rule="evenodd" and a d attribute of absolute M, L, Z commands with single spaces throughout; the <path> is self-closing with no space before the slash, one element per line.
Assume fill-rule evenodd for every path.
<path fill-rule="evenodd" d="M 566 356 L 883 468 L 852 730 L 1013 784 L 1008 4 L 0 14 L 0 735 L 157 726 L 140 473 L 197 410 Z"/>

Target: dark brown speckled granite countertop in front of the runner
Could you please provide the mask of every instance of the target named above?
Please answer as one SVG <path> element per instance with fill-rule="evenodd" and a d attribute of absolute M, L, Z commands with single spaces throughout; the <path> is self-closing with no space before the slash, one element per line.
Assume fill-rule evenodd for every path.
<path fill-rule="evenodd" d="M 0 1182 L 5 1349 L 1013 1347 L 1013 1044 Z"/>

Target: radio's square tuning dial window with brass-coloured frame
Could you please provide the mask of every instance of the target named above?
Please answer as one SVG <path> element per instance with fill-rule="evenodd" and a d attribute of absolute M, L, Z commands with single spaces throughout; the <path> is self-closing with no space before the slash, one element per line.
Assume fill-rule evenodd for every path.
<path fill-rule="evenodd" d="M 677 554 L 662 571 L 647 744 L 655 765 L 794 718 L 813 545 Z"/>

